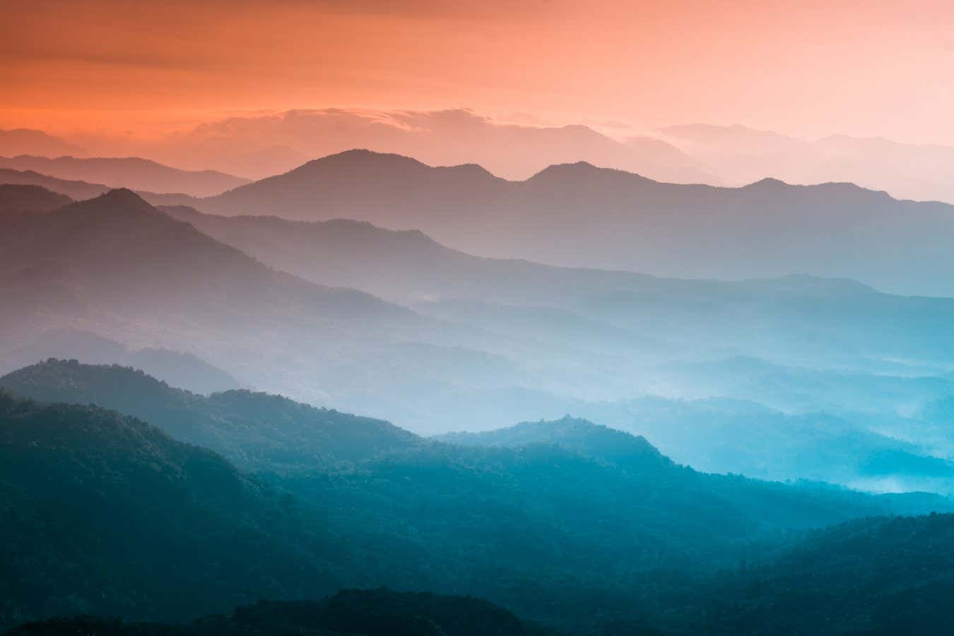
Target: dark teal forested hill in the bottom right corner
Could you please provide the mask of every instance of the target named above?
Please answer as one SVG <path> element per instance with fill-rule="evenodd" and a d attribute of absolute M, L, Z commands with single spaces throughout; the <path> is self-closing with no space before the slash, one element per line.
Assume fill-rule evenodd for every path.
<path fill-rule="evenodd" d="M 950 633 L 952 533 L 954 515 L 821 530 L 777 561 L 696 590 L 704 609 L 687 613 L 710 634 Z"/>

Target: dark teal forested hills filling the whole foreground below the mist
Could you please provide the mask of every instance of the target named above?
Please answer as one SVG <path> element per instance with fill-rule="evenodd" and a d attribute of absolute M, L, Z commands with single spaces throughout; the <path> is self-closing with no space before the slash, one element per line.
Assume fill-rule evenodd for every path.
<path fill-rule="evenodd" d="M 954 510 L 945 498 L 700 473 L 570 418 L 430 440 L 118 366 L 48 360 L 2 384 L 59 401 L 0 396 L 0 625 L 103 617 L 14 633 L 384 633 L 341 631 L 342 599 L 476 633 L 434 613 L 485 602 L 393 596 L 427 590 L 580 634 L 888 633 L 902 606 L 924 633 L 947 626 L 954 516 L 894 516 Z M 217 431 L 237 431 L 224 456 L 170 437 Z M 398 592 L 329 597 L 382 585 Z M 259 599 L 311 601 L 220 616 Z M 493 612 L 478 613 L 510 616 Z M 543 633 L 507 621 L 485 633 Z"/>

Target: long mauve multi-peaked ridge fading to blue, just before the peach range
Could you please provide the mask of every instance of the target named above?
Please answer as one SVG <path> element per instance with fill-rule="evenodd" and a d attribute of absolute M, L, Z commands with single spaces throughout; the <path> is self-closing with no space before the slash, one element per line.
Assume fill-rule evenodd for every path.
<path fill-rule="evenodd" d="M 659 183 L 586 163 L 523 182 L 477 166 L 430 168 L 351 151 L 204 199 L 223 215 L 349 217 L 418 229 L 485 256 L 667 277 L 847 277 L 902 294 L 954 295 L 954 207 L 851 184 L 743 188 Z M 917 250 L 904 246 L 918 245 Z"/>

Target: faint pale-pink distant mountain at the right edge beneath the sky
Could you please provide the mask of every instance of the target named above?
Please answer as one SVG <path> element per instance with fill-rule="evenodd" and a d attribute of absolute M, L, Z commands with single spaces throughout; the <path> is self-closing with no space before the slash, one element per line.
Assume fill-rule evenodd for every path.
<path fill-rule="evenodd" d="M 724 183 L 765 176 L 794 183 L 851 181 L 899 198 L 954 203 L 954 148 L 835 134 L 802 139 L 745 126 L 690 124 L 658 131 Z"/>

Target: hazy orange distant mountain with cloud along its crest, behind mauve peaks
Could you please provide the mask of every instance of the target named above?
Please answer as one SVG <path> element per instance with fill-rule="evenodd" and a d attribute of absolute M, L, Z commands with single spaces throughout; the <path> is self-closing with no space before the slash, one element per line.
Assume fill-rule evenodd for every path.
<path fill-rule="evenodd" d="M 404 154 L 436 166 L 474 162 L 507 179 L 527 178 L 548 163 L 581 159 L 664 181 L 716 178 L 657 136 L 628 129 L 617 132 L 629 133 L 628 138 L 617 140 L 578 124 L 495 120 L 467 109 L 296 110 L 201 124 L 171 139 L 163 156 L 176 165 L 215 166 L 255 178 L 284 173 L 309 158 L 350 148 Z"/>

